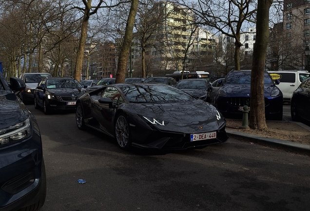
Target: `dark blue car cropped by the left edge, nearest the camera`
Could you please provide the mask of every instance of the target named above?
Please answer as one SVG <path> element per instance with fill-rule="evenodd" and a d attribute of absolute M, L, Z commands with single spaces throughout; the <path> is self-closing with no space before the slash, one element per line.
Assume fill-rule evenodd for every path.
<path fill-rule="evenodd" d="M 33 211 L 46 195 L 41 135 L 36 118 L 16 96 L 25 83 L 10 78 L 10 87 L 0 72 L 0 211 Z"/>

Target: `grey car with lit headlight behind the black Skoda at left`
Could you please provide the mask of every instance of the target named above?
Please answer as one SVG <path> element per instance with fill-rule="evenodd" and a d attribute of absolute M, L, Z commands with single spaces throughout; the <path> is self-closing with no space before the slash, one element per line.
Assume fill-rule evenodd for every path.
<path fill-rule="evenodd" d="M 19 78 L 26 84 L 25 90 L 19 92 L 19 98 L 23 103 L 33 103 L 35 88 L 43 77 L 52 77 L 49 73 L 22 73 Z"/>

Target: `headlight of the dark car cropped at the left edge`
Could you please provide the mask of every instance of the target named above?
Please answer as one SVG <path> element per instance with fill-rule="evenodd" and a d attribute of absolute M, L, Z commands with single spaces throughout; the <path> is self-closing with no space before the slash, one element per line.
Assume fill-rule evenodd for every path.
<path fill-rule="evenodd" d="M 0 145 L 10 142 L 22 141 L 31 136 L 32 121 L 28 117 L 25 121 L 16 125 L 0 129 Z"/>

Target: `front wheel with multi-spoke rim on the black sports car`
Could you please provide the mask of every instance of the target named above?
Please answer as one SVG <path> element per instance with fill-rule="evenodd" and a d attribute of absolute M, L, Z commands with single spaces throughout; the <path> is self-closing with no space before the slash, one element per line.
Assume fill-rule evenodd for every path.
<path fill-rule="evenodd" d="M 120 148 L 129 149 L 131 147 L 128 118 L 125 114 L 118 114 L 115 121 L 115 137 Z"/>

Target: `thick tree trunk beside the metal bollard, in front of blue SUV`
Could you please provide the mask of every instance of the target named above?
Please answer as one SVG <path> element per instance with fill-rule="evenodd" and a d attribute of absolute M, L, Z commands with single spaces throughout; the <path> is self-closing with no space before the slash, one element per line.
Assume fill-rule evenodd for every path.
<path fill-rule="evenodd" d="M 251 76 L 251 112 L 252 129 L 267 128 L 264 100 L 264 71 L 269 40 L 269 9 L 273 0 L 259 0 L 257 6 L 256 41 L 253 49 Z"/>

